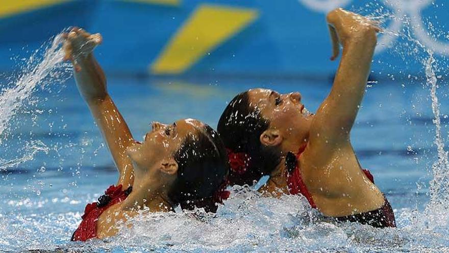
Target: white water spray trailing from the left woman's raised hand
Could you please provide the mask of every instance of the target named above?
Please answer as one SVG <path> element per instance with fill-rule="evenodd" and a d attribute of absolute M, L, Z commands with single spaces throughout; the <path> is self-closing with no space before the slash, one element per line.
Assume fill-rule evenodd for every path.
<path fill-rule="evenodd" d="M 62 42 L 63 38 L 59 34 L 50 44 L 44 43 L 26 61 L 18 78 L 2 85 L 7 88 L 4 88 L 0 94 L 0 145 L 8 140 L 9 130 L 12 128 L 11 124 L 14 123 L 16 115 L 24 108 L 36 104 L 34 103 L 36 101 L 32 101 L 32 95 L 37 88 L 44 89 L 51 84 L 64 83 L 70 78 L 71 65 L 62 61 L 64 56 Z M 40 57 L 42 52 L 44 54 Z M 11 79 L 13 78 L 9 78 Z M 0 170 L 31 160 L 40 151 L 47 153 L 48 148 L 41 141 L 30 140 L 25 143 L 21 157 L 0 158 Z"/>

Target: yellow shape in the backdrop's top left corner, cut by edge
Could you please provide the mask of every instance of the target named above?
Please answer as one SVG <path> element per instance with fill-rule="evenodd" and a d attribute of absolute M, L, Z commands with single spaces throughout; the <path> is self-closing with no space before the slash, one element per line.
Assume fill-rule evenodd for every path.
<path fill-rule="evenodd" d="M 0 3 L 0 17 L 68 2 L 68 0 L 3 0 Z"/>

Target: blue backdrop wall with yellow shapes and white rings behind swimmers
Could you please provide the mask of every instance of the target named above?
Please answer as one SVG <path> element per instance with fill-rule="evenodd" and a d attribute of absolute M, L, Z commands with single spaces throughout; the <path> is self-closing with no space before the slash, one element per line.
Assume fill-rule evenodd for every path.
<path fill-rule="evenodd" d="M 383 22 L 378 75 L 422 70 L 420 62 L 404 60 L 408 43 L 401 34 L 447 53 L 448 35 L 439 32 L 448 21 L 444 1 L 3 0 L 0 71 L 13 70 L 11 57 L 28 56 L 78 26 L 103 35 L 96 56 L 107 75 L 329 78 L 337 62 L 329 60 L 325 17 L 339 6 Z"/>

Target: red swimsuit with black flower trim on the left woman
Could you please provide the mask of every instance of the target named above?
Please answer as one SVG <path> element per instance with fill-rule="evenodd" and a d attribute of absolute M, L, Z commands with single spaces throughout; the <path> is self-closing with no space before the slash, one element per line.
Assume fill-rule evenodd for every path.
<path fill-rule="evenodd" d="M 122 186 L 110 186 L 105 191 L 105 195 L 98 198 L 98 202 L 93 202 L 86 205 L 83 220 L 73 233 L 71 241 L 86 241 L 90 238 L 97 238 L 96 225 L 98 217 L 105 212 L 111 205 L 120 203 L 125 200 L 132 191 L 132 187 L 125 191 L 121 190 Z"/>

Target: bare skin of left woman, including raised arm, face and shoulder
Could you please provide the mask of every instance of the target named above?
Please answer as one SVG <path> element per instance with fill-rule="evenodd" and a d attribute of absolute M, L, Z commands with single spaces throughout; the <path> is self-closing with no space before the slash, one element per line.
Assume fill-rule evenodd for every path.
<path fill-rule="evenodd" d="M 80 94 L 114 159 L 119 172 L 117 185 L 122 185 L 123 189 L 133 187 L 126 200 L 110 206 L 98 218 L 97 236 L 109 237 L 118 232 L 118 221 L 126 221 L 127 217 L 136 215 L 143 208 L 149 212 L 172 210 L 167 196 L 178 172 L 173 154 L 186 136 L 196 136 L 204 124 L 192 119 L 170 125 L 154 122 L 144 141 L 136 142 L 109 96 L 106 77 L 92 54 L 96 45 L 102 42 L 101 35 L 73 28 L 64 37 L 65 59 L 74 66 Z"/>

